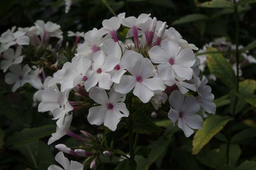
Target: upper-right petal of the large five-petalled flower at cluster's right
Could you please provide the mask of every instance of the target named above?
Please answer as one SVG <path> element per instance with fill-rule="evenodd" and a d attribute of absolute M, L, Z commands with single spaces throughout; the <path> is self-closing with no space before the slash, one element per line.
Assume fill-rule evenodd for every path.
<path fill-rule="evenodd" d="M 195 64 L 195 54 L 189 49 L 183 49 L 175 58 L 175 64 L 182 67 L 192 67 Z"/>

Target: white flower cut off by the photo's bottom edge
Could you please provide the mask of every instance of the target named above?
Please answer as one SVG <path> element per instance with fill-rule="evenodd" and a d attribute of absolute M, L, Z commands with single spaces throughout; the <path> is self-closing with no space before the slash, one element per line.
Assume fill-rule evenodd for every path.
<path fill-rule="evenodd" d="M 84 166 L 77 161 L 69 161 L 63 152 L 57 153 L 55 160 L 61 164 L 61 167 L 57 165 L 50 165 L 47 170 L 83 170 Z"/>

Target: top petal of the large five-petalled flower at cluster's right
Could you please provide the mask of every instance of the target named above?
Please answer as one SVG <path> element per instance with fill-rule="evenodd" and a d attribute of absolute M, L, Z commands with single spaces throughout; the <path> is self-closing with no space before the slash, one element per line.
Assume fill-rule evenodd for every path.
<path fill-rule="evenodd" d="M 165 51 L 165 53 L 168 54 L 169 58 L 173 59 L 176 58 L 178 52 L 181 49 L 178 43 L 172 40 L 163 40 L 162 47 L 163 51 Z"/>

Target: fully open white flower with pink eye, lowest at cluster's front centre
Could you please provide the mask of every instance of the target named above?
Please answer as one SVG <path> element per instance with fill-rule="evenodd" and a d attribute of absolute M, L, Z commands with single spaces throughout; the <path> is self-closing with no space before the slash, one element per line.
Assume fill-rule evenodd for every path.
<path fill-rule="evenodd" d="M 104 123 L 110 130 L 115 131 L 121 118 L 129 116 L 129 111 L 124 103 L 125 94 L 117 93 L 111 88 L 108 97 L 104 89 L 93 87 L 89 91 L 89 96 L 96 103 L 100 104 L 100 106 L 89 109 L 87 119 L 91 125 L 101 125 Z"/>

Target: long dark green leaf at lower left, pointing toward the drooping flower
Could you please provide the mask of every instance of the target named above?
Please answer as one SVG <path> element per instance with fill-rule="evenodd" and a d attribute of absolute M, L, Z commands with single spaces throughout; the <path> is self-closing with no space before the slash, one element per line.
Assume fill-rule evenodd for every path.
<path fill-rule="evenodd" d="M 33 140 L 40 139 L 44 136 L 49 136 L 55 132 L 55 125 L 46 125 L 41 127 L 26 128 L 6 139 L 6 145 L 24 144 Z"/>

